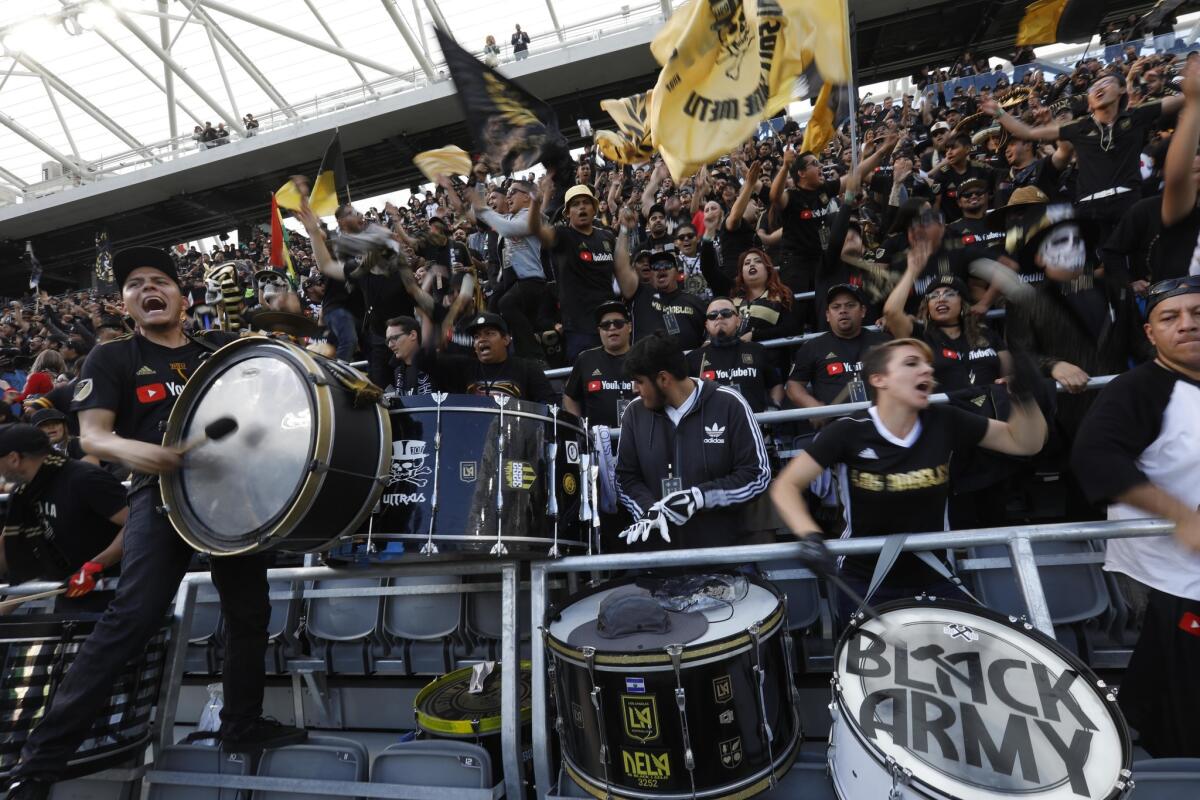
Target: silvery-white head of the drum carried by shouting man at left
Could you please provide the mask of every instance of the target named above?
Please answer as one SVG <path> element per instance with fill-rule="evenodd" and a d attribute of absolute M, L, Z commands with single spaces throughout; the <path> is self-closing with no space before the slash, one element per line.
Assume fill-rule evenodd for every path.
<path fill-rule="evenodd" d="M 236 419 L 238 431 L 187 455 L 178 476 L 186 505 L 180 511 L 197 535 L 253 542 L 292 509 L 310 471 L 314 397 L 308 373 L 276 342 L 241 348 L 212 367 L 193 395 L 179 439 L 202 434 L 222 416 Z"/>

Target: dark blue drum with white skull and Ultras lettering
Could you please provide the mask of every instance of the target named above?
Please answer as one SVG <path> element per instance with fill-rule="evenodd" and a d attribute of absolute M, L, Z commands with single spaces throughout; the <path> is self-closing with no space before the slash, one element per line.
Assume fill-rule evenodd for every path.
<path fill-rule="evenodd" d="M 326 561 L 584 549 L 587 434 L 554 407 L 504 399 L 502 409 L 496 398 L 474 395 L 394 398 L 388 486 L 367 525 Z"/>

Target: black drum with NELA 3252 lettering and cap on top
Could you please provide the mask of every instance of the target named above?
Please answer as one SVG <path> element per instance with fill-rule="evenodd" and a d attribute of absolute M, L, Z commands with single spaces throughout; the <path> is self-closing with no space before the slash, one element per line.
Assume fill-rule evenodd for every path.
<path fill-rule="evenodd" d="M 703 633 L 683 644 L 691 633 L 682 625 L 637 634 L 636 644 L 571 644 L 629 585 L 606 584 L 551 613 L 550 685 L 566 772 L 596 798 L 748 798 L 770 788 L 799 746 L 782 596 L 751 579 L 732 608 L 700 613 Z"/>

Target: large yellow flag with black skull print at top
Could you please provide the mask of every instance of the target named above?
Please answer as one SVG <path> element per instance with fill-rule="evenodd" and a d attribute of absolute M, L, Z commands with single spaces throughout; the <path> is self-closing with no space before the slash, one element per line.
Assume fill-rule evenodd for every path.
<path fill-rule="evenodd" d="M 850 82 L 846 0 L 695 0 L 650 50 L 662 65 L 650 97 L 655 148 L 677 181 L 754 136 L 794 97 L 808 64 Z"/>

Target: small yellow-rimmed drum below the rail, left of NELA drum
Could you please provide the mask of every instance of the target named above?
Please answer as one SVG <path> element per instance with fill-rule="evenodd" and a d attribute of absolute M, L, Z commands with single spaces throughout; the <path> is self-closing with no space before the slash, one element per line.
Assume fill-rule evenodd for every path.
<path fill-rule="evenodd" d="M 416 693 L 413 710 L 424 736 L 472 741 L 487 751 L 492 760 L 492 786 L 504 782 L 504 756 L 500 748 L 500 672 L 503 664 L 484 681 L 484 691 L 470 693 L 472 668 L 464 667 L 438 678 Z M 528 661 L 521 662 L 517 702 L 521 705 L 521 765 L 526 783 L 533 777 L 533 679 Z"/>

